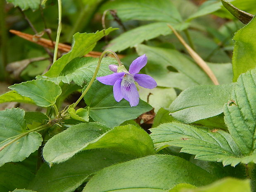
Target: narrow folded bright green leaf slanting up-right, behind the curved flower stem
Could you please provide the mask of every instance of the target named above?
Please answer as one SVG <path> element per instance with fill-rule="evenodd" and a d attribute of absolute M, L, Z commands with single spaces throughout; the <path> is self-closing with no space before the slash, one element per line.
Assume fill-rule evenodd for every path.
<path fill-rule="evenodd" d="M 60 75 L 66 64 L 76 57 L 82 57 L 90 52 L 96 45 L 97 41 L 107 36 L 111 31 L 117 28 L 108 28 L 106 30 L 97 31 L 96 33 L 76 33 L 73 36 L 73 45 L 69 53 L 59 58 L 47 71 L 44 76 L 57 77 Z"/>

